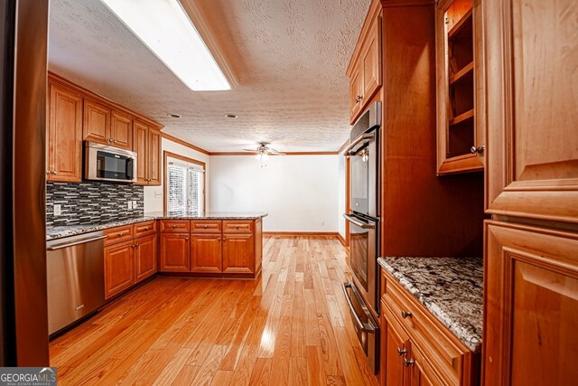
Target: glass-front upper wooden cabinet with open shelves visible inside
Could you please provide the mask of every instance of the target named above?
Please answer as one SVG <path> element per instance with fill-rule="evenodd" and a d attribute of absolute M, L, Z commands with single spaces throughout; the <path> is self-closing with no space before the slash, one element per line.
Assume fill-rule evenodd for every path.
<path fill-rule="evenodd" d="M 484 168 L 481 0 L 446 0 L 435 14 L 437 172 Z"/>

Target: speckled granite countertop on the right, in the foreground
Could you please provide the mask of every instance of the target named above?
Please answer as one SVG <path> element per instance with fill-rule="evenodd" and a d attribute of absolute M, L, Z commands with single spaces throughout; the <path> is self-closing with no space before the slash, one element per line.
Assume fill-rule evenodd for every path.
<path fill-rule="evenodd" d="M 482 258 L 379 258 L 378 263 L 471 351 L 480 352 Z"/>

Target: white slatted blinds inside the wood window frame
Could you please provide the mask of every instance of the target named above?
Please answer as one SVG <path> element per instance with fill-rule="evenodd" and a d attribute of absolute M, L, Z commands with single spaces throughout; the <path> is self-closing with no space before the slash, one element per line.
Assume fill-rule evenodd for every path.
<path fill-rule="evenodd" d="M 204 212 L 203 173 L 199 165 L 169 162 L 167 211 Z"/>

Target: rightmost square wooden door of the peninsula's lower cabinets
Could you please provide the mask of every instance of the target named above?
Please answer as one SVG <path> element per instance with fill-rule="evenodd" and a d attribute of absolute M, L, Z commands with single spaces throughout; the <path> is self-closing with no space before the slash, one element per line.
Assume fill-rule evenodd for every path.
<path fill-rule="evenodd" d="M 255 272 L 255 240 L 252 234 L 223 235 L 223 272 Z"/>

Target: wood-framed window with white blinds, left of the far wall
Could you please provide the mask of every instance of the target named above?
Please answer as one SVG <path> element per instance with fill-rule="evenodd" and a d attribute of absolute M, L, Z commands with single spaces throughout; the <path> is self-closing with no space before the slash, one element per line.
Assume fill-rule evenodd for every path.
<path fill-rule="evenodd" d="M 167 214 L 204 212 L 204 163 L 164 152 L 164 173 Z"/>

